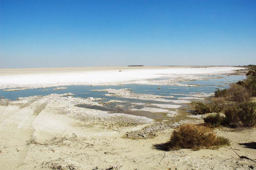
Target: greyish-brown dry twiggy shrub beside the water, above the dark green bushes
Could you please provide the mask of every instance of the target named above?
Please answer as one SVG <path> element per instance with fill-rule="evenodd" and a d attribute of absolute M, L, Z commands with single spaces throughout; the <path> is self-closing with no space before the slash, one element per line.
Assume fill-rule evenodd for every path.
<path fill-rule="evenodd" d="M 236 102 L 246 102 L 250 100 L 250 92 L 245 87 L 233 83 L 230 85 L 229 93 Z"/>

